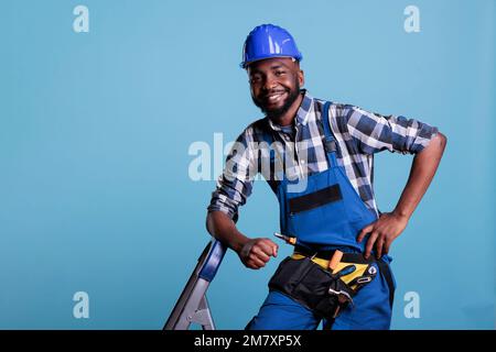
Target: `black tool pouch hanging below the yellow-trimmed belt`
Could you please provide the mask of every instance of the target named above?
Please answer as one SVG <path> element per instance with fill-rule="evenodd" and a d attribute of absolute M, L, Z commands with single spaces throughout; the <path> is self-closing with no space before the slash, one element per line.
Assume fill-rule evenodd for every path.
<path fill-rule="evenodd" d="M 333 319 L 338 306 L 353 302 L 356 292 L 339 277 L 304 257 L 284 258 L 269 282 L 269 288 L 278 290 L 315 315 Z"/>

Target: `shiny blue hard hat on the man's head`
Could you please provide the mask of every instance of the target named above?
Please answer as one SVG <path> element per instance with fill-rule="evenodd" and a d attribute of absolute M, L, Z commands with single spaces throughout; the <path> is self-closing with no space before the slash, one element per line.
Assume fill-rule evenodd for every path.
<path fill-rule="evenodd" d="M 273 24 L 256 26 L 246 37 L 242 63 L 239 66 L 246 68 L 252 62 L 270 57 L 294 57 L 296 61 L 303 58 L 287 30 Z"/>

